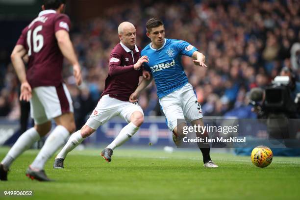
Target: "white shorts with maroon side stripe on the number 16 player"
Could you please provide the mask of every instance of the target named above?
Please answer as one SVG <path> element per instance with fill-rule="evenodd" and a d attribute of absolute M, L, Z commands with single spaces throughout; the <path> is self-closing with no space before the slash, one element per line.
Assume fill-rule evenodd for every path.
<path fill-rule="evenodd" d="M 30 114 L 36 125 L 43 124 L 63 113 L 74 112 L 67 86 L 40 86 L 33 88 Z"/>

